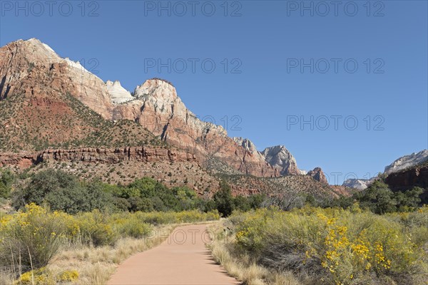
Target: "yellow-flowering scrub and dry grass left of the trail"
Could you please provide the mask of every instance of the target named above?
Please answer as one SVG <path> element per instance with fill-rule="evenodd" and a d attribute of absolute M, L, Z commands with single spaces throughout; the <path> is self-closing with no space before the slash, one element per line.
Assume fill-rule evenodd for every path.
<path fill-rule="evenodd" d="M 22 280 L 29 276 L 35 284 L 103 284 L 115 264 L 153 247 L 165 235 L 168 237 L 164 229 L 172 226 L 156 228 L 155 224 L 219 218 L 218 212 L 198 211 L 109 214 L 96 209 L 71 215 L 29 204 L 20 212 L 0 219 L 0 284 L 11 284 L 13 280 L 24 284 Z M 65 266 L 67 256 L 73 257 L 73 263 Z M 53 264 L 58 260 L 63 264 L 55 267 Z M 85 266 L 81 265 L 82 260 Z"/>

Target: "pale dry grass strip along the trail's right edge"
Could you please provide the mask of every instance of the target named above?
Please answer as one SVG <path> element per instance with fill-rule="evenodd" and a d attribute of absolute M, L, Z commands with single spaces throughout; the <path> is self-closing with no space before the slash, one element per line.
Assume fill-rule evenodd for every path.
<path fill-rule="evenodd" d="M 230 247 L 233 237 L 223 231 L 222 223 L 210 226 L 214 233 L 213 242 L 208 244 L 215 261 L 222 265 L 228 274 L 246 285 L 301 285 L 290 272 L 277 273 L 255 264 L 246 254 L 237 254 Z"/>

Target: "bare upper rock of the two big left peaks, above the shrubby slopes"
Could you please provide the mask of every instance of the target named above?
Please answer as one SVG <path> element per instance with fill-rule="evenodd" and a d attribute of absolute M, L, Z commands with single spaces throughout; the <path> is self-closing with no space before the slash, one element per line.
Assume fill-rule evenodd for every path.
<path fill-rule="evenodd" d="M 24 95 L 30 105 L 55 105 L 56 112 L 67 113 L 61 100 L 55 98 L 70 94 L 105 119 L 136 121 L 171 145 L 192 150 L 203 157 L 215 157 L 244 174 L 279 175 L 263 157 L 237 145 L 221 126 L 196 118 L 167 81 L 146 81 L 136 88 L 134 100 L 114 104 L 108 85 L 100 78 L 79 63 L 59 57 L 49 46 L 34 38 L 9 43 L 0 49 L 0 78 L 1 99 Z M 56 132 L 58 138 L 51 134 L 47 140 L 60 142 L 63 133 L 64 130 Z"/>

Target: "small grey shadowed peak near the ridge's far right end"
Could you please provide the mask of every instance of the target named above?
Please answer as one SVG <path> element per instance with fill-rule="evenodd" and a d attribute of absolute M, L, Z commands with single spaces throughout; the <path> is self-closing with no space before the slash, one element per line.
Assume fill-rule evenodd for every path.
<path fill-rule="evenodd" d="M 261 154 L 265 160 L 280 172 L 280 175 L 300 175 L 295 157 L 283 145 L 267 147 Z"/>

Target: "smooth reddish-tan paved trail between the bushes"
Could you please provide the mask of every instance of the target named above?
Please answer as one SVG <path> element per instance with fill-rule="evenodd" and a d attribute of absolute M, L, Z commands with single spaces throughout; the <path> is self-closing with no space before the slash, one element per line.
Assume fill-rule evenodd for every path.
<path fill-rule="evenodd" d="M 110 285 L 238 285 L 205 248 L 207 226 L 177 227 L 161 245 L 133 255 L 118 267 Z"/>

